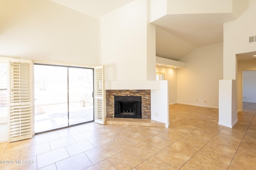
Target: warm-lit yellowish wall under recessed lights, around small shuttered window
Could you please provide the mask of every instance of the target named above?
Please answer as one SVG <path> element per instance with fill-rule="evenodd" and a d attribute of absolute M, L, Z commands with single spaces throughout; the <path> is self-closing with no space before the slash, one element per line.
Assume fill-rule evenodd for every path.
<path fill-rule="evenodd" d="M 164 73 L 164 79 L 168 80 L 169 104 L 177 103 L 177 69 L 156 66 L 156 72 Z"/>

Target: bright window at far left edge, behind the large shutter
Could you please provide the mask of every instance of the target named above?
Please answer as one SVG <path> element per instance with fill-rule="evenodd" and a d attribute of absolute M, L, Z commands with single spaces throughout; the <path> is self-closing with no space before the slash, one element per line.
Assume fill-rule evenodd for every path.
<path fill-rule="evenodd" d="M 0 59 L 0 117 L 7 116 L 7 63 Z"/>

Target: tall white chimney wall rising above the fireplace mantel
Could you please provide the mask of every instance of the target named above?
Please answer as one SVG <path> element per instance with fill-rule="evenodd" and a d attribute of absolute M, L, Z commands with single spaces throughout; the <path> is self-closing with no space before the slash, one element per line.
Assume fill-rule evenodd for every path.
<path fill-rule="evenodd" d="M 101 56 L 106 81 L 147 80 L 147 0 L 101 18 Z"/>

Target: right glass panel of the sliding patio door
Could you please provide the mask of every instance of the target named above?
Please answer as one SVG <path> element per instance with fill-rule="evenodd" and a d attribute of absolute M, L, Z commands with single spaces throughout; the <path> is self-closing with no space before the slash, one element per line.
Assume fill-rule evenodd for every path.
<path fill-rule="evenodd" d="M 93 70 L 68 68 L 69 124 L 75 125 L 94 120 Z"/>

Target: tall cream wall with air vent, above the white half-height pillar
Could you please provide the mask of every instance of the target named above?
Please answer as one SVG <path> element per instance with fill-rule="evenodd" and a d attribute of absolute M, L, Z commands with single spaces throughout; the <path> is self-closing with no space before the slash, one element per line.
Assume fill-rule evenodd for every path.
<path fill-rule="evenodd" d="M 256 51 L 249 37 L 256 35 L 256 1 L 237 0 L 234 21 L 224 23 L 223 78 L 236 80 L 236 54 Z"/>

